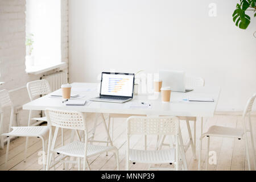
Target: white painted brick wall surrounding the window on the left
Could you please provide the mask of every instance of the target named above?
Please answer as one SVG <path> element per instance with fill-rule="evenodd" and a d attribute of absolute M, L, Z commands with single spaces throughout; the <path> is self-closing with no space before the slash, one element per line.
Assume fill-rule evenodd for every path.
<path fill-rule="evenodd" d="M 26 56 L 26 0 L 0 0 L 0 90 L 12 90 L 24 86 L 28 81 L 39 80 L 42 75 L 25 72 Z M 68 63 L 68 0 L 61 1 L 61 60 Z M 14 105 L 29 101 L 27 89 L 10 93 Z M 39 112 L 35 111 L 35 115 Z M 3 132 L 8 130 L 10 114 L 4 116 Z M 15 125 L 14 117 L 14 125 Z M 19 122 L 27 125 L 28 111 L 19 114 Z"/>

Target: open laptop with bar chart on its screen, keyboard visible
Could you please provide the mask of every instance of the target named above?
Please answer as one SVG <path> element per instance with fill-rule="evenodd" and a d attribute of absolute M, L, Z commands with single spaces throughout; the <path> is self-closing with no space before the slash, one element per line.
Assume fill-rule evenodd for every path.
<path fill-rule="evenodd" d="M 133 99 L 134 73 L 101 73 L 100 97 L 90 101 L 123 103 Z"/>

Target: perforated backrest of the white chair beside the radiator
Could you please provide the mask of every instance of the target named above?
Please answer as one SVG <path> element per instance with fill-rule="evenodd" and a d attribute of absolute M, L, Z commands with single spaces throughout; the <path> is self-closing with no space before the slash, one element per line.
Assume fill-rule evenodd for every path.
<path fill-rule="evenodd" d="M 36 80 L 27 83 L 27 92 L 30 100 L 34 100 L 36 96 L 51 93 L 51 87 L 47 80 Z"/>

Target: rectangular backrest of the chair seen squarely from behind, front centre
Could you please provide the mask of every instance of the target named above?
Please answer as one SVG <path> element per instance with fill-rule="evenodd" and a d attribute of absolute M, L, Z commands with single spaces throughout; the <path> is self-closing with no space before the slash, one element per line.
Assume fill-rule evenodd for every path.
<path fill-rule="evenodd" d="M 179 134 L 177 117 L 129 117 L 128 135 L 176 135 Z"/>

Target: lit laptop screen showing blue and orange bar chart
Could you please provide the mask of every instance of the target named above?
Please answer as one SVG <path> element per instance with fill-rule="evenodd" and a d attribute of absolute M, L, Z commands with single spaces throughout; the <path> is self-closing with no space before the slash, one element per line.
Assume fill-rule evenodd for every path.
<path fill-rule="evenodd" d="M 100 96 L 133 98 L 134 74 L 102 72 Z"/>

